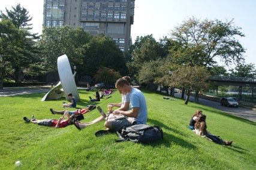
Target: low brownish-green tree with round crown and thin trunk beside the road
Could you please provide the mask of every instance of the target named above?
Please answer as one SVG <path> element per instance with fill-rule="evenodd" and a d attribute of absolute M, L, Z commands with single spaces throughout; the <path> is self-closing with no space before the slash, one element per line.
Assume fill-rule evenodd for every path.
<path fill-rule="evenodd" d="M 206 67 L 181 66 L 170 75 L 168 85 L 185 88 L 187 91 L 185 104 L 188 104 L 191 91 L 200 91 L 201 89 L 206 88 L 206 80 L 209 76 L 210 74 Z"/>

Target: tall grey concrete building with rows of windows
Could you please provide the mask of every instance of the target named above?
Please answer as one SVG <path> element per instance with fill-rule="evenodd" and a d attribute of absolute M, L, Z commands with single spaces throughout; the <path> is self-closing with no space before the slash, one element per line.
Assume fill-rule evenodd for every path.
<path fill-rule="evenodd" d="M 46 27 L 83 27 L 92 35 L 103 33 L 128 50 L 135 0 L 44 0 Z"/>

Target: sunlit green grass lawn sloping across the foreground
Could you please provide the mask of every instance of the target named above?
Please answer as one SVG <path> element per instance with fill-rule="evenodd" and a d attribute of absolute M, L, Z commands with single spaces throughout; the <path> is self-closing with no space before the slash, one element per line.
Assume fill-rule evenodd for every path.
<path fill-rule="evenodd" d="M 94 92 L 79 91 L 84 108 Z M 179 99 L 164 100 L 161 94 L 144 91 L 149 112 L 147 123 L 161 126 L 164 141 L 159 144 L 115 143 L 116 134 L 95 137 L 104 122 L 82 131 L 74 125 L 50 128 L 25 123 L 23 116 L 58 119 L 49 108 L 62 110 L 62 102 L 40 101 L 44 94 L 0 97 L 0 169 L 255 169 L 256 123 L 227 115 L 195 103 L 188 106 Z M 118 92 L 97 104 L 121 101 Z M 221 146 L 187 129 L 195 110 L 207 115 L 207 129 L 233 146 Z M 69 109 L 74 110 L 74 109 Z M 100 116 L 97 110 L 86 113 L 82 122 Z M 20 160 L 21 166 L 14 163 Z"/>

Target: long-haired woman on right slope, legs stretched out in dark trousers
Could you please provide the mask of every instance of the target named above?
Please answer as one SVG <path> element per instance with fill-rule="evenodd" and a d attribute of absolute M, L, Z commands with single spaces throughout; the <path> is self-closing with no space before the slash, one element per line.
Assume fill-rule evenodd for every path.
<path fill-rule="evenodd" d="M 195 123 L 195 134 L 200 135 L 202 137 L 205 136 L 205 137 L 209 138 L 210 140 L 212 140 L 214 143 L 224 144 L 227 146 L 230 146 L 232 144 L 233 141 L 222 140 L 221 138 L 217 137 L 216 135 L 210 134 L 206 130 L 206 128 L 207 128 L 206 115 L 200 115 L 199 119 Z"/>

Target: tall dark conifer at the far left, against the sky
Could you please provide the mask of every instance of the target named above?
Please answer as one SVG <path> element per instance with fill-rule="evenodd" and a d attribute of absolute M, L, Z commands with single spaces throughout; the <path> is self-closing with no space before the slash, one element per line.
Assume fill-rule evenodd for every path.
<path fill-rule="evenodd" d="M 1 11 L 0 18 L 4 20 L 10 20 L 14 26 L 20 30 L 19 33 L 19 53 L 13 55 L 12 60 L 10 61 L 11 67 L 14 69 L 14 80 L 16 82 L 19 80 L 19 75 L 23 73 L 23 70 L 26 68 L 29 69 L 29 66 L 34 61 L 39 61 L 36 57 L 40 53 L 40 49 L 35 45 L 35 41 L 40 37 L 37 34 L 30 33 L 29 30 L 32 29 L 32 24 L 28 24 L 32 18 L 29 16 L 28 11 L 20 7 L 20 4 L 17 4 L 16 7 L 12 7 L 13 10 L 7 10 L 4 14 Z M 18 37 L 17 37 L 18 38 Z M 16 41 L 17 42 L 17 41 Z"/>

